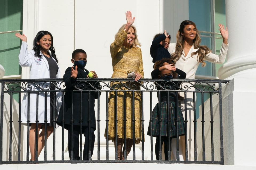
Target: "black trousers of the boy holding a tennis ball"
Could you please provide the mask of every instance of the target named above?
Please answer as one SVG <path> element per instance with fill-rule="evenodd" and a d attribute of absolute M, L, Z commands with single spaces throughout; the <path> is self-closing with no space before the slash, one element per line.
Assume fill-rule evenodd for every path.
<path fill-rule="evenodd" d="M 91 128 L 91 137 L 89 140 L 89 128 L 82 128 L 82 134 L 85 136 L 85 145 L 83 147 L 83 160 L 89 160 L 89 148 L 91 144 L 91 156 L 93 155 L 94 148 L 94 129 Z M 80 127 L 73 126 L 73 160 L 80 160 L 80 152 L 79 152 L 79 135 L 80 135 Z M 71 160 L 71 126 L 68 129 L 68 137 L 69 137 L 69 159 Z M 80 141 L 81 142 L 81 141 Z"/>

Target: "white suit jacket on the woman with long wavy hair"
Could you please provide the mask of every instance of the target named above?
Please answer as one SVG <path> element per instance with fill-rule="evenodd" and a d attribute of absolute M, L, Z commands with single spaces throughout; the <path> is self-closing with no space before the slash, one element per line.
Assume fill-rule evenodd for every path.
<path fill-rule="evenodd" d="M 168 50 L 171 54 L 175 52 L 175 47 L 176 47 L 176 44 L 169 45 Z M 229 47 L 229 44 L 226 45 L 222 42 L 219 56 L 210 52 L 205 56 L 205 61 L 209 61 L 212 63 L 224 63 L 226 59 L 228 47 Z M 197 59 L 198 55 L 191 56 L 191 53 L 196 52 L 198 49 L 199 48 L 194 49 L 194 44 L 193 44 L 187 56 L 185 57 L 185 53 L 184 51 L 182 51 L 181 57 L 176 62 L 175 67 L 184 71 L 187 74 L 186 78 L 188 79 L 195 78 L 195 72 L 197 71 L 199 64 L 201 64 Z"/>

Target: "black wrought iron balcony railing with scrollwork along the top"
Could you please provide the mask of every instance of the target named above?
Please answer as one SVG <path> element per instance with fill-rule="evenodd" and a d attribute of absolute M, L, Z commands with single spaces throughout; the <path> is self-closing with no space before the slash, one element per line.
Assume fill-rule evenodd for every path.
<path fill-rule="evenodd" d="M 63 82 L 63 79 L 9 79 L 9 80 L 0 80 L 1 83 L 1 120 L 0 120 L 0 163 L 1 164 L 11 164 L 11 163 L 213 163 L 213 164 L 224 164 L 224 158 L 223 158 L 223 133 L 222 133 L 222 86 L 223 84 L 228 83 L 229 80 L 210 80 L 210 79 L 141 79 L 139 82 L 135 82 L 134 79 L 108 79 L 108 78 L 97 78 L 97 79 L 77 79 L 77 81 L 72 85 L 72 88 L 67 88 L 65 85 L 65 82 Z M 54 88 L 53 88 L 54 87 Z M 163 92 L 166 93 L 166 103 L 169 106 L 170 104 L 170 96 L 174 96 L 173 102 L 175 102 L 175 108 L 173 113 L 175 114 L 175 139 L 178 141 L 176 142 L 176 150 L 175 153 L 173 153 L 176 158 L 171 158 L 171 153 L 173 152 L 171 150 L 171 140 L 170 133 L 167 134 L 168 137 L 168 160 L 162 159 L 162 145 L 161 145 L 161 137 L 159 138 L 159 160 L 155 160 L 154 157 L 154 138 L 152 135 L 153 130 L 153 104 L 154 103 L 161 103 L 161 95 Z M 53 101 L 54 101 L 54 108 L 53 108 L 53 119 L 47 120 L 47 98 L 49 98 L 49 94 L 53 94 Z M 64 117 L 65 115 L 65 109 L 63 104 L 62 112 L 57 111 L 56 101 L 58 97 L 62 98 L 62 102 L 65 98 L 65 93 L 71 93 L 72 99 L 71 99 L 71 117 L 70 117 L 70 128 L 73 128 L 73 94 L 74 93 L 80 93 L 80 103 L 79 103 L 79 128 L 80 128 L 80 145 L 79 145 L 79 160 L 74 160 L 74 152 L 73 148 L 71 147 L 70 152 L 70 159 L 65 157 L 65 140 L 67 140 L 67 136 L 65 135 L 65 129 L 64 124 L 65 120 L 62 119 L 62 127 L 61 132 L 56 132 L 56 117 L 57 114 Z M 89 99 L 87 101 L 84 100 L 83 94 L 87 93 L 89 96 Z M 114 98 L 114 113 L 109 113 L 109 102 L 111 95 Z M 184 99 L 179 99 L 179 94 L 184 96 Z M 204 98 L 205 94 L 208 94 L 209 96 L 209 106 L 205 105 L 206 99 Z M 22 100 L 23 96 L 26 95 L 26 100 Z M 34 95 L 31 97 L 31 95 Z M 89 113 L 92 109 L 91 107 L 91 101 L 92 101 L 92 95 L 97 96 L 95 98 L 98 98 L 95 100 L 95 125 L 96 125 L 96 131 L 97 133 L 97 152 L 94 151 L 94 156 L 97 155 L 97 158 L 95 159 L 91 158 L 91 147 L 88 148 L 88 160 L 82 160 L 82 114 L 84 114 L 82 110 L 82 105 L 85 104 L 84 102 L 89 103 Z M 135 106 L 135 100 L 138 100 L 137 97 L 139 95 L 139 107 Z M 42 105 L 40 100 L 40 97 L 44 97 L 44 121 L 39 122 L 39 107 Z M 145 97 L 146 96 L 146 97 Z M 158 97 L 157 97 L 158 96 Z M 217 96 L 217 97 L 216 97 Z M 126 108 L 122 110 L 123 114 L 123 128 L 122 133 L 124 136 L 123 143 L 124 143 L 124 160 L 118 160 L 118 97 L 122 97 L 122 107 Z M 24 99 L 25 99 L 24 98 Z M 197 99 L 201 99 L 200 104 L 198 105 Z M 8 100 L 7 100 L 8 99 Z M 214 101 L 216 100 L 217 101 Z M 34 100 L 34 101 L 32 101 Z M 103 102 L 101 102 L 103 100 Z M 131 101 L 131 105 L 127 106 L 127 100 Z M 27 120 L 24 122 L 22 121 L 22 102 L 26 102 L 26 113 L 27 113 Z M 30 104 L 34 103 L 33 106 L 30 106 Z M 178 129 L 178 105 L 181 105 L 181 103 L 184 103 L 183 106 L 181 106 L 181 109 L 184 114 L 184 122 L 181 122 L 185 126 L 185 143 L 181 144 L 179 142 L 179 131 Z M 213 104 L 215 103 L 215 104 Z M 217 103 L 217 104 L 216 104 Z M 200 107 L 200 114 L 198 112 L 198 106 Z M 217 107 L 216 107 L 217 105 Z M 7 108 L 9 106 L 9 108 Z M 129 108 L 130 107 L 130 108 Z M 158 107 L 160 108 L 161 105 L 159 104 Z M 188 107 L 190 107 L 190 112 L 188 112 Z M 206 111 L 206 107 L 210 108 L 209 112 Z M 126 139 L 126 122 L 127 122 L 127 108 L 131 109 L 131 126 L 132 126 L 132 143 L 133 148 L 130 153 L 132 153 L 132 156 L 129 156 L 129 159 L 132 158 L 132 160 L 127 160 L 127 140 Z M 169 107 L 167 107 L 169 108 Z M 214 108 L 218 108 L 218 115 L 215 115 Z M 24 108 L 23 108 L 24 109 Z M 32 111 L 31 111 L 32 109 Z M 135 112 L 136 110 L 139 110 L 140 114 L 140 120 L 135 120 Z M 145 113 L 145 110 L 147 113 Z M 38 131 L 35 131 L 35 160 L 31 160 L 31 153 L 30 153 L 30 144 L 31 141 L 29 131 L 30 131 L 30 117 L 31 112 L 35 113 L 35 124 L 36 129 L 38 129 L 39 125 L 47 129 L 48 123 L 51 121 L 53 123 L 53 149 L 51 160 L 49 160 L 49 147 L 47 147 L 47 138 L 44 139 L 44 151 L 42 151 L 41 155 L 43 154 L 43 158 L 38 159 L 38 156 L 40 153 L 38 153 Z M 207 113 L 206 113 L 207 112 Z M 15 113 L 15 115 L 14 115 Z M 171 126 L 171 120 L 170 120 L 170 109 L 166 109 L 166 115 L 167 115 L 167 131 L 170 130 Z M 109 151 L 109 114 L 114 115 L 114 133 L 115 133 L 115 152 L 114 152 L 114 159 L 110 159 L 110 152 Z M 91 117 L 91 114 L 88 114 L 88 124 L 87 128 L 91 128 L 93 124 L 93 118 Z M 149 131 L 150 131 L 150 141 L 145 141 L 145 116 L 149 117 L 149 122 L 146 122 L 146 124 L 149 124 Z M 157 123 L 158 123 L 158 130 L 161 134 L 161 119 L 162 113 L 160 113 L 160 109 L 158 111 L 157 116 Z M 198 122 L 198 117 L 200 116 L 200 126 Z M 206 120 L 205 117 L 209 117 L 209 120 Z M 216 117 L 218 118 L 216 122 Z M 104 121 L 102 121 L 104 120 Z M 100 122 L 101 121 L 101 122 Z M 140 131 L 141 131 L 141 143 L 139 144 L 141 153 L 135 152 L 135 121 L 140 121 Z M 188 121 L 192 121 L 193 126 L 188 127 Z M 106 123 L 103 124 L 103 122 Z M 103 124 L 103 126 L 102 126 Z M 207 124 L 207 125 L 206 125 Z M 199 129 L 200 127 L 200 129 Z M 15 129 L 13 129 L 15 128 Z M 100 131 L 100 129 L 106 128 L 105 136 Z M 111 127 L 112 128 L 112 127 Z M 146 128 L 147 129 L 147 128 Z M 189 136 L 189 133 L 191 131 L 194 131 L 194 136 Z M 198 131 L 200 131 L 202 134 L 198 134 Z M 205 136 L 205 131 L 207 133 L 207 137 Z M 218 131 L 218 136 L 216 134 L 214 135 L 214 131 Z M 90 135 L 91 131 L 89 130 L 89 143 L 91 143 Z M 46 130 L 45 130 L 45 136 Z M 61 138 L 58 138 L 60 137 Z M 200 137 L 200 140 L 199 139 Z M 188 138 L 194 140 L 194 150 L 189 150 L 188 147 Z M 101 140 L 100 140 L 101 139 Z M 210 142 L 205 142 L 206 139 Z M 105 148 L 106 150 L 101 150 L 101 144 L 102 141 L 105 140 Z M 57 145 L 57 143 L 61 141 L 61 146 Z M 71 129 L 71 146 L 73 146 L 73 129 Z M 214 147 L 215 143 L 217 142 L 216 146 L 218 148 Z M 145 143 L 147 143 L 147 147 L 145 147 Z M 148 145 L 150 143 L 150 145 Z M 91 144 L 90 144 L 91 145 Z M 180 153 L 182 151 L 179 150 L 180 146 L 182 146 L 182 151 L 185 151 L 184 153 L 184 160 L 180 160 Z M 61 153 L 56 153 L 56 147 L 61 147 Z M 211 148 L 209 153 L 206 153 L 206 148 Z M 96 154 L 97 153 L 97 154 Z M 145 158 L 146 153 L 146 158 Z M 218 155 L 216 155 L 218 153 Z M 141 155 L 140 159 L 136 159 L 136 155 Z M 47 156 L 48 155 L 48 156 Z M 102 159 L 102 155 L 104 155 L 104 159 Z M 194 159 L 191 159 L 191 155 L 194 156 Z M 210 156 L 207 156 L 210 155 Z M 174 156 L 174 157 L 175 157 Z M 122 159 L 122 158 L 121 158 Z"/>

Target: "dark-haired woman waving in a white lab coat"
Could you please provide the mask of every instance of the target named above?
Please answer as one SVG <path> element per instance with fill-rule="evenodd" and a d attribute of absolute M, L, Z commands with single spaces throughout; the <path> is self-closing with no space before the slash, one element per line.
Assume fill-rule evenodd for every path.
<path fill-rule="evenodd" d="M 34 39 L 33 50 L 27 50 L 27 37 L 23 34 L 16 33 L 16 37 L 21 39 L 22 45 L 19 53 L 19 65 L 22 67 L 30 67 L 30 79 L 47 79 L 47 78 L 61 78 L 58 60 L 55 55 L 53 47 L 53 36 L 48 31 L 39 31 Z M 51 51 L 51 53 L 49 52 Z M 58 84 L 57 84 L 58 85 Z M 49 89 L 50 86 L 50 89 Z M 40 91 L 40 88 L 55 90 L 56 83 L 29 83 L 27 90 L 33 90 L 35 92 Z M 45 117 L 45 93 L 31 92 L 29 95 L 29 113 L 28 113 L 28 93 L 25 93 L 22 106 L 21 106 L 21 121 L 27 123 L 30 121 L 29 131 L 29 147 L 31 153 L 31 159 L 35 158 L 35 139 L 38 138 L 38 156 L 45 145 L 45 131 L 46 139 L 50 136 L 54 129 L 55 117 L 58 115 L 59 108 L 61 106 L 61 92 L 56 93 L 54 101 L 54 92 L 47 93 L 47 111 Z M 38 128 L 36 129 L 37 121 L 37 108 L 38 108 Z M 55 110 L 56 109 L 56 110 Z M 29 118 L 28 118 L 29 114 Z M 54 115 L 55 114 L 55 115 Z M 55 117 L 54 117 L 55 116 Z M 45 129 L 45 120 L 47 120 L 47 128 Z M 39 134 L 40 129 L 42 129 Z M 37 132 L 36 132 L 37 131 Z M 36 137 L 36 133 L 38 136 Z"/>

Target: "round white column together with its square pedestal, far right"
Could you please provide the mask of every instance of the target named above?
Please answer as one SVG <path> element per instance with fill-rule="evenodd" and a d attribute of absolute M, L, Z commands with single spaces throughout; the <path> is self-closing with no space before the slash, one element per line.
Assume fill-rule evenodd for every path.
<path fill-rule="evenodd" d="M 233 79 L 223 87 L 224 163 L 256 166 L 256 1 L 226 0 L 229 29 L 227 62 L 219 69 L 220 79 Z"/>

